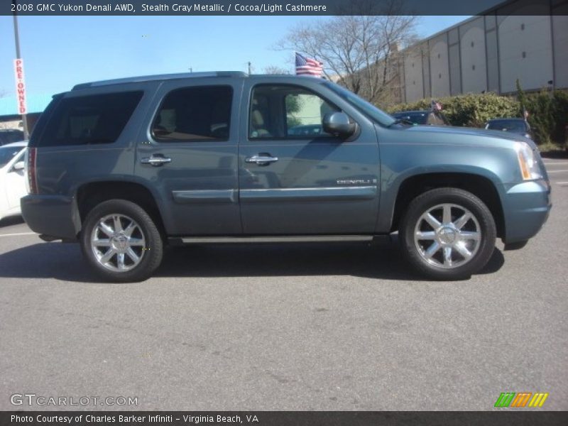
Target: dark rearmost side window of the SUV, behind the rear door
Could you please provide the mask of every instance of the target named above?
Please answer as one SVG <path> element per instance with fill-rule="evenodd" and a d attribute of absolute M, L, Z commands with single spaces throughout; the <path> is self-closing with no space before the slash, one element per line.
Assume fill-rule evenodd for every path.
<path fill-rule="evenodd" d="M 38 146 L 113 143 L 143 92 L 120 92 L 61 99 Z"/>

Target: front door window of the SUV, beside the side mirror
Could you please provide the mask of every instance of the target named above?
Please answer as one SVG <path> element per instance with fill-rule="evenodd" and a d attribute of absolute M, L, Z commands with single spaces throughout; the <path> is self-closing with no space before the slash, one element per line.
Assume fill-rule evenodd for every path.
<path fill-rule="evenodd" d="M 322 129 L 329 111 L 339 109 L 302 87 L 257 86 L 251 98 L 249 138 L 331 137 Z"/>

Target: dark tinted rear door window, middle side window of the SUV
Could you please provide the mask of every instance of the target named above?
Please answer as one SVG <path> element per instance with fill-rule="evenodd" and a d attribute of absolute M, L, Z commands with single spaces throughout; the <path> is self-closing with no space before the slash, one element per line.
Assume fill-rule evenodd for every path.
<path fill-rule="evenodd" d="M 233 89 L 187 87 L 170 92 L 152 125 L 158 141 L 226 141 Z"/>

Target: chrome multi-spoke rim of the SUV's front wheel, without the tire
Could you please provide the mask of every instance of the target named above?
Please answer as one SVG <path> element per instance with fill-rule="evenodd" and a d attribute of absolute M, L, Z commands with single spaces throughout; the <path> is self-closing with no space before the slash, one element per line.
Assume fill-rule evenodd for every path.
<path fill-rule="evenodd" d="M 414 243 L 422 259 L 444 269 L 471 261 L 481 244 L 481 227 L 474 214 L 457 204 L 438 204 L 418 219 Z"/>

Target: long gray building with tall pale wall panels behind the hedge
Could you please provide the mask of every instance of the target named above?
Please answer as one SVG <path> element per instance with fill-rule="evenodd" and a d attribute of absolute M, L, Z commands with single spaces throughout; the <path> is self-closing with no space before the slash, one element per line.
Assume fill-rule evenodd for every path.
<path fill-rule="evenodd" d="M 568 88 L 566 15 L 566 0 L 510 1 L 422 40 L 401 52 L 400 101 Z"/>

